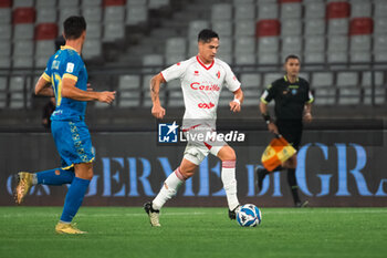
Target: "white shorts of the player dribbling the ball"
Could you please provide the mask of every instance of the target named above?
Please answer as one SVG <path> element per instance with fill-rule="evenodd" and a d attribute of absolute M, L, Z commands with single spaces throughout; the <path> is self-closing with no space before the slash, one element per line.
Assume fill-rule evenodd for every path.
<path fill-rule="evenodd" d="M 194 130 L 196 131 L 196 130 Z M 199 131 L 202 132 L 202 131 Z M 212 131 L 213 132 L 213 131 Z M 195 132 L 190 131 L 190 133 L 195 134 Z M 187 136 L 187 133 L 185 133 Z M 200 163 L 208 156 L 208 154 L 212 154 L 217 156 L 219 151 L 227 145 L 224 141 L 189 141 L 187 143 L 186 149 L 184 152 L 184 158 L 189 162 L 200 165 Z"/>

